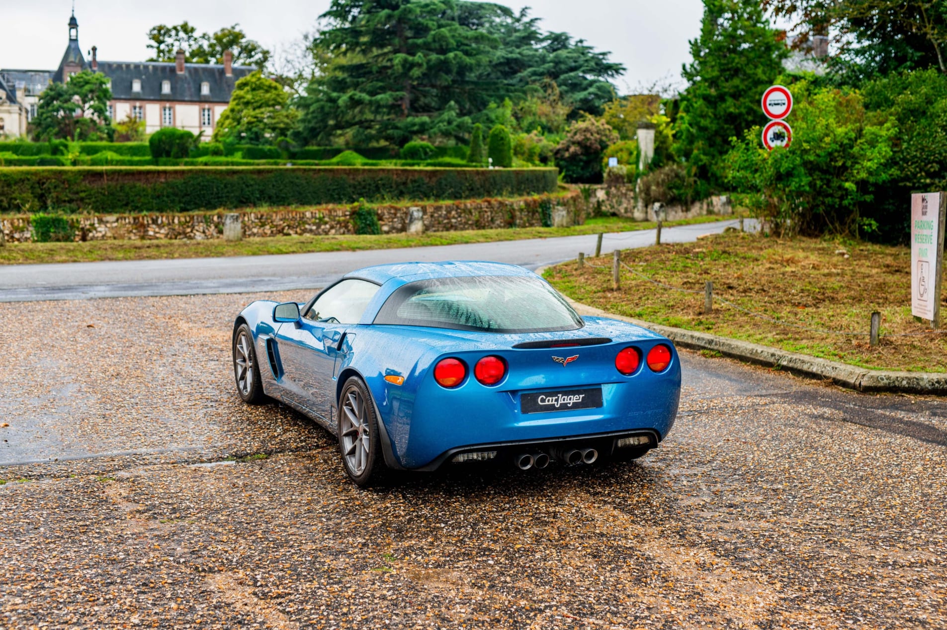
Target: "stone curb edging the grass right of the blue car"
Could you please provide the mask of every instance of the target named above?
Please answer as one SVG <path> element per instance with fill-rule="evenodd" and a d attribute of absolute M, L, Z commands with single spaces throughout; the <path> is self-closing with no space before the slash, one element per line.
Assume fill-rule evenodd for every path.
<path fill-rule="evenodd" d="M 538 270 L 542 273 L 542 270 Z M 587 304 L 566 297 L 580 315 L 611 317 L 642 326 L 668 337 L 676 346 L 689 350 L 717 351 L 734 359 L 768 368 L 779 368 L 800 376 L 819 380 L 830 380 L 841 387 L 863 392 L 902 392 L 912 394 L 947 395 L 947 374 L 932 372 L 903 372 L 864 369 L 819 359 L 796 352 L 778 350 L 768 346 L 721 337 L 715 334 L 686 331 L 681 328 L 661 326 L 633 317 L 606 313 Z"/>

